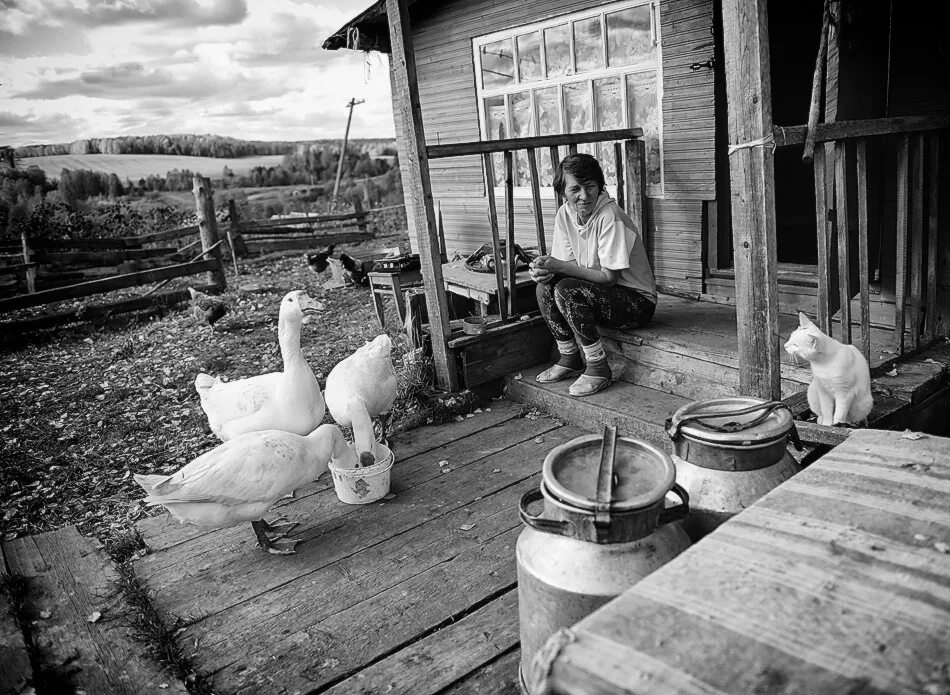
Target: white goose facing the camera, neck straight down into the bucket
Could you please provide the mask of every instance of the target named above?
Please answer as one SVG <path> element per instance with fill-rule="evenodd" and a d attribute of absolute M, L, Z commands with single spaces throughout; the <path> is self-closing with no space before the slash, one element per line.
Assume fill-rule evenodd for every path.
<path fill-rule="evenodd" d="M 327 375 L 327 408 L 338 424 L 353 428 L 362 465 L 375 460 L 372 418 L 388 413 L 396 400 L 392 346 L 392 339 L 383 333 L 338 362 Z"/>

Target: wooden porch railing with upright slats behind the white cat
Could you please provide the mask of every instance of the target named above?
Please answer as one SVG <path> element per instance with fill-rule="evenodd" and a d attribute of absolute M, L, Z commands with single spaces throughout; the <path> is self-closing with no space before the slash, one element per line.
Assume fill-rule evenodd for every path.
<path fill-rule="evenodd" d="M 868 147 L 884 138 L 896 147 L 893 213 L 896 241 L 893 347 L 903 354 L 910 346 L 934 337 L 937 320 L 937 214 L 939 140 L 950 130 L 950 116 L 915 116 L 819 124 L 816 142 L 832 143 L 831 161 L 824 147 L 814 150 L 815 215 L 818 237 L 818 326 L 831 335 L 833 306 L 840 309 L 840 336 L 852 342 L 852 266 L 857 268 L 860 298 L 860 348 L 870 362 L 871 298 L 868 254 Z M 806 128 L 773 129 L 777 146 L 805 142 Z M 826 177 L 833 172 L 833 187 Z M 829 199 L 829 190 L 832 191 Z M 854 192 L 857 200 L 851 201 Z M 882 190 L 882 195 L 884 191 Z M 855 203 L 855 204 L 852 204 Z M 884 219 L 885 208 L 878 206 Z M 926 213 L 927 223 L 924 224 Z M 855 229 L 856 226 L 856 229 Z M 856 232 L 856 234 L 855 234 Z M 857 248 L 852 248 L 856 236 Z M 883 235 L 878 240 L 884 249 Z M 837 264 L 833 263 L 837 251 Z M 881 254 L 883 257 L 883 254 Z M 854 262 L 856 261 L 856 263 Z M 882 273 L 883 277 L 883 273 Z M 838 296 L 833 295 L 837 284 Z"/>

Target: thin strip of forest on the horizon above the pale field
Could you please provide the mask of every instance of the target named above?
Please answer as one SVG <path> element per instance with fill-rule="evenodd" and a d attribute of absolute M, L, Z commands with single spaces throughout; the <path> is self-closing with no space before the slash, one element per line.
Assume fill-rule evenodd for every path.
<path fill-rule="evenodd" d="M 360 140 L 379 147 L 393 144 L 392 138 Z M 236 140 L 221 135 L 123 135 L 116 138 L 88 138 L 55 145 L 23 145 L 13 150 L 17 158 L 59 154 L 177 154 L 187 157 L 252 157 L 290 154 L 304 145 L 329 145 L 339 140 L 264 141 Z"/>

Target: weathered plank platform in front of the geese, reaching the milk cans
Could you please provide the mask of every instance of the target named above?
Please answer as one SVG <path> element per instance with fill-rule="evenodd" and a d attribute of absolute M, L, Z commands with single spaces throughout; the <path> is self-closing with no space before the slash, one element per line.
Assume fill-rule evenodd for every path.
<path fill-rule="evenodd" d="M 397 435 L 390 500 L 344 505 L 328 481 L 308 486 L 280 509 L 301 522 L 293 556 L 262 553 L 249 528 L 176 536 L 150 520 L 136 570 L 217 692 L 516 683 L 518 500 L 546 453 L 582 434 L 522 412 L 492 401 Z"/>

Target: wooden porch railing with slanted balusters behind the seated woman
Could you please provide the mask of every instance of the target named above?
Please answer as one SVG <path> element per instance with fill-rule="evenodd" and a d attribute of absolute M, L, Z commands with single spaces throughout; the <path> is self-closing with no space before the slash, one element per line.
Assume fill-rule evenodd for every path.
<path fill-rule="evenodd" d="M 482 172 L 488 198 L 488 217 L 491 230 L 492 252 L 495 263 L 495 285 L 498 292 L 498 309 L 502 323 L 516 320 L 518 317 L 516 300 L 515 248 L 515 208 L 514 208 L 514 158 L 515 153 L 524 150 L 528 162 L 531 188 L 532 217 L 538 250 L 547 253 L 544 234 L 544 215 L 541 208 L 541 181 L 538 171 L 538 152 L 546 151 L 551 161 L 551 172 L 560 161 L 559 147 L 567 147 L 570 153 L 577 152 L 578 145 L 586 143 L 613 143 L 613 163 L 617 176 L 617 203 L 628 211 L 631 217 L 640 222 L 641 234 L 646 229 L 644 197 L 646 181 L 644 178 L 644 144 L 641 138 L 643 130 L 629 128 L 623 130 L 604 130 L 597 133 L 575 133 L 571 135 L 543 135 L 529 138 L 510 138 L 486 142 L 465 142 L 449 145 L 430 145 L 426 148 L 428 158 L 444 159 L 479 155 L 482 158 Z M 495 174 L 492 155 L 501 154 L 504 159 L 504 196 L 505 196 L 505 255 L 501 255 L 501 235 L 499 232 L 498 209 L 495 201 Z M 555 194 L 555 210 L 561 206 L 561 197 Z M 625 206 L 625 202 L 629 205 Z M 440 248 L 445 248 L 444 232 L 439 228 Z M 506 297 L 507 290 L 507 300 Z"/>

